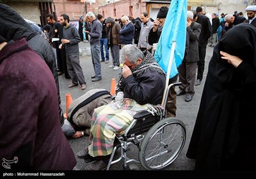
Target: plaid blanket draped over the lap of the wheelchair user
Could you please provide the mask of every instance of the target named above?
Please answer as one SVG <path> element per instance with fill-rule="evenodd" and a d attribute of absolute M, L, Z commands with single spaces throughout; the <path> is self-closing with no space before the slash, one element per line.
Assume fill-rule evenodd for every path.
<path fill-rule="evenodd" d="M 111 154 L 116 134 L 124 134 L 134 114 L 150 109 L 151 106 L 140 105 L 135 100 L 124 98 L 96 108 L 92 116 L 89 154 L 92 157 Z"/>

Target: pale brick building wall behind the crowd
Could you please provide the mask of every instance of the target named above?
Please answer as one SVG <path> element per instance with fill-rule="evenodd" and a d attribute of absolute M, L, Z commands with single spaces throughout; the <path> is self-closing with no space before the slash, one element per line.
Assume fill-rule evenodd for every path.
<path fill-rule="evenodd" d="M 156 18 L 161 6 L 170 6 L 171 0 L 0 0 L 16 10 L 22 17 L 33 20 L 36 24 L 45 26 L 47 13 L 60 17 L 67 13 L 71 21 L 76 22 L 85 12 L 92 11 L 114 19 L 122 15 L 140 17 L 140 13 L 147 12 L 152 19 Z M 188 0 L 188 10 L 195 10 L 203 6 L 208 13 L 245 12 L 248 5 L 255 4 L 255 0 Z"/>

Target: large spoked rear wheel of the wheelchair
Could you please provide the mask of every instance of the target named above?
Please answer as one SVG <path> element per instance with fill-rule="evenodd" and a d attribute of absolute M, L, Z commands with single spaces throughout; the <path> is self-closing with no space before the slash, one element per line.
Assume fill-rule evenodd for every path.
<path fill-rule="evenodd" d="M 148 170 L 163 169 L 180 154 L 186 141 L 186 128 L 177 118 L 165 118 L 148 130 L 141 141 L 139 160 Z"/>

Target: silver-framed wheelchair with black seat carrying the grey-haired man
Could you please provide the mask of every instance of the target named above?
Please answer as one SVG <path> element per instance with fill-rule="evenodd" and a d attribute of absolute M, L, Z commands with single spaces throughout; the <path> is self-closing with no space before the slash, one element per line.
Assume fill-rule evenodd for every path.
<path fill-rule="evenodd" d="M 180 82 L 170 84 L 167 91 L 170 91 L 172 86 L 180 84 Z M 123 160 L 125 170 L 138 170 L 137 164 L 141 164 L 147 170 L 156 170 L 169 166 L 177 159 L 186 141 L 186 127 L 177 118 L 165 118 L 167 98 L 166 94 L 163 107 L 156 107 L 154 113 L 142 111 L 135 114 L 125 133 L 116 136 L 107 170 L 120 160 Z M 138 160 L 127 157 L 132 144 L 138 147 Z M 120 156 L 114 159 L 119 148 Z M 91 159 L 84 160 L 86 163 L 92 162 Z"/>

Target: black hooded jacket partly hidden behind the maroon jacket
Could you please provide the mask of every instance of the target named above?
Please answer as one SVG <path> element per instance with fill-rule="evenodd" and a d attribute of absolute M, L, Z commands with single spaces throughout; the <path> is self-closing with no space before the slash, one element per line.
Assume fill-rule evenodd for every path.
<path fill-rule="evenodd" d="M 60 122 L 63 124 L 63 111 L 61 109 L 61 98 L 59 89 L 59 80 L 55 56 L 51 45 L 22 18 L 19 13 L 15 12 L 6 4 L 0 4 L 0 34 L 6 40 L 19 40 L 26 38 L 29 47 L 33 49 L 45 63 L 49 66 L 56 82 L 59 98 L 59 114 Z"/>

